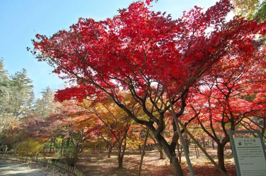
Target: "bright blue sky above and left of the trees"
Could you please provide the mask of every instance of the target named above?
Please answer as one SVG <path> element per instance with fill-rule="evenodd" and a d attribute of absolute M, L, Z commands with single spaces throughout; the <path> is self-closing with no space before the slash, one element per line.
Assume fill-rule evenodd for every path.
<path fill-rule="evenodd" d="M 10 74 L 25 68 L 32 79 L 34 93 L 40 96 L 47 86 L 62 89 L 64 81 L 45 62 L 38 62 L 26 47 L 32 47 L 31 39 L 36 33 L 47 36 L 61 29 L 68 29 L 79 17 L 104 20 L 118 14 L 132 0 L 1 0 L 0 1 L 0 57 Z M 194 5 L 205 10 L 215 0 L 159 0 L 152 3 L 152 10 L 166 11 L 179 18 L 183 11 Z"/>

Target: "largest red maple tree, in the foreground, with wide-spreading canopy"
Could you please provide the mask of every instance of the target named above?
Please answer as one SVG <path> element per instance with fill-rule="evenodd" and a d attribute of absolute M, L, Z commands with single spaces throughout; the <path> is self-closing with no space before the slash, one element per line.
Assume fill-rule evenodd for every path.
<path fill-rule="evenodd" d="M 179 107 L 176 114 L 181 116 L 188 90 L 198 78 L 221 58 L 246 57 L 253 36 L 265 31 L 265 25 L 256 21 L 235 17 L 226 22 L 231 9 L 229 0 L 221 0 L 205 12 L 195 6 L 173 20 L 137 1 L 112 19 L 80 18 L 69 31 L 61 30 L 52 37 L 37 34 L 32 53 L 73 83 L 58 91 L 56 99 L 111 99 L 136 123 L 150 128 L 174 163 L 175 175 L 183 175 L 173 157 L 176 141 L 169 145 L 161 135 L 169 101 Z M 211 32 L 206 32 L 210 28 Z M 118 92 L 122 90 L 129 91 L 155 123 L 135 116 L 120 101 Z M 171 99 L 163 97 L 166 90 Z M 147 102 L 154 104 L 158 116 L 147 108 Z"/>

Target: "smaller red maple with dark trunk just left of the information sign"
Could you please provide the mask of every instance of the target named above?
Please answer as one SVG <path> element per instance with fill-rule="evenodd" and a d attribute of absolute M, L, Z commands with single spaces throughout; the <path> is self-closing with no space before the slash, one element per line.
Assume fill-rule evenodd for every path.
<path fill-rule="evenodd" d="M 218 165 L 224 171 L 228 131 L 237 129 L 243 119 L 266 112 L 265 53 L 253 45 L 247 51 L 245 56 L 220 59 L 191 89 L 189 103 L 195 113 L 201 110 L 197 120 L 216 142 Z"/>

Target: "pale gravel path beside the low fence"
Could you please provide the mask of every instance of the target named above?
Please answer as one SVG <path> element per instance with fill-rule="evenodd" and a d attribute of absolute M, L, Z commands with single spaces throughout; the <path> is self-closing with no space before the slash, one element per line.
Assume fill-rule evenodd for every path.
<path fill-rule="evenodd" d="M 0 160 L 1 176 L 56 176 L 61 173 L 54 172 L 52 169 L 40 167 L 34 164 Z"/>

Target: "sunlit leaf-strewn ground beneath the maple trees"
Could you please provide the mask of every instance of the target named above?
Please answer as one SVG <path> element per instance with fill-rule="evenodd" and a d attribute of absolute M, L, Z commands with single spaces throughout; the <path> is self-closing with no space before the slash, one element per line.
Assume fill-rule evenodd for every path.
<path fill-rule="evenodd" d="M 208 154 L 218 163 L 216 150 L 207 149 Z M 91 151 L 82 152 L 79 155 L 79 161 L 76 166 L 86 176 L 136 176 L 140 162 L 141 154 L 139 151 L 126 150 L 123 160 L 123 169 L 118 169 L 117 152 L 113 150 L 111 158 L 107 158 L 108 153 Z M 214 165 L 200 151 L 200 157 L 196 158 L 194 149 L 190 149 L 190 159 L 196 176 L 220 176 Z M 85 157 L 89 158 L 85 161 Z M 225 163 L 228 176 L 236 176 L 234 158 L 231 150 L 225 151 Z M 184 175 L 190 175 L 186 164 L 185 156 L 181 157 L 181 165 Z M 157 150 L 146 151 L 142 164 L 142 176 L 171 176 L 173 168 L 169 159 L 164 154 L 164 159 L 159 160 L 159 152 Z"/>

